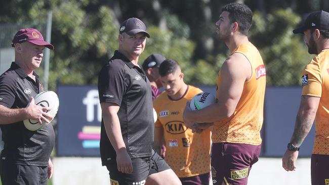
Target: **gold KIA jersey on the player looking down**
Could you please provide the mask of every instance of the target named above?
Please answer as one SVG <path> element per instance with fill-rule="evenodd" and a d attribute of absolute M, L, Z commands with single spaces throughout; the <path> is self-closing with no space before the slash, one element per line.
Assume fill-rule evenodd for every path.
<path fill-rule="evenodd" d="M 178 177 L 190 177 L 208 173 L 210 167 L 211 131 L 192 133 L 183 122 L 186 102 L 202 92 L 189 85 L 180 100 L 171 100 L 167 92 L 163 92 L 153 102 L 157 112 L 155 127 L 163 128 L 166 141 L 166 162 Z"/>

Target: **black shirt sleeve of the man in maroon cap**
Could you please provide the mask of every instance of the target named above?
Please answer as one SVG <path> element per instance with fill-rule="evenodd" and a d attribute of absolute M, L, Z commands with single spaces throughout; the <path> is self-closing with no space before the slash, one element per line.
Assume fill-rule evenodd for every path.
<path fill-rule="evenodd" d="M 11 76 L 0 76 L 0 105 L 11 108 L 15 103 L 16 80 Z"/>

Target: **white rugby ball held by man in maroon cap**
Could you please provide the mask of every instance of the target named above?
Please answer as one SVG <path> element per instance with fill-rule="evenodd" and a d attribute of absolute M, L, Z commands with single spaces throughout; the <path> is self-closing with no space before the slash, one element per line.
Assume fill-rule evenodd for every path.
<path fill-rule="evenodd" d="M 43 91 L 34 97 L 34 104 L 52 108 L 47 113 L 55 117 L 59 107 L 59 99 L 54 91 Z M 43 121 L 43 124 L 39 124 L 39 122 L 34 119 L 26 119 L 23 122 L 24 126 L 31 131 L 42 129 L 49 124 L 46 121 Z"/>

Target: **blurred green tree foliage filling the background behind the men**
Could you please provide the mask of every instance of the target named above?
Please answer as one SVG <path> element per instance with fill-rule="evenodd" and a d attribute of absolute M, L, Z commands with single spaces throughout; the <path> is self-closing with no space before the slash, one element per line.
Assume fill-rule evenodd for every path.
<path fill-rule="evenodd" d="M 220 8 L 232 2 L 243 2 L 254 11 L 250 40 L 266 64 L 267 83 L 298 85 L 302 68 L 313 56 L 307 54 L 302 34 L 292 30 L 306 13 L 319 7 L 328 11 L 327 0 L 12 0 L 0 7 L 0 23 L 39 28 L 48 11 L 53 12 L 50 89 L 56 89 L 57 81 L 96 84 L 100 68 L 118 48 L 119 23 L 129 17 L 142 19 L 151 34 L 140 64 L 159 53 L 180 63 L 187 83 L 214 85 L 229 55 L 216 39 L 215 22 Z"/>

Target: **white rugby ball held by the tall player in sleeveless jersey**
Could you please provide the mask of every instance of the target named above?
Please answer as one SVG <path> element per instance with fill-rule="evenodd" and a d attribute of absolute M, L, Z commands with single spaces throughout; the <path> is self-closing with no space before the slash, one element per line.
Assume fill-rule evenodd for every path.
<path fill-rule="evenodd" d="M 216 103 L 216 98 L 214 95 L 210 92 L 200 92 L 192 98 L 190 102 L 190 109 L 195 111 L 214 103 Z"/>

